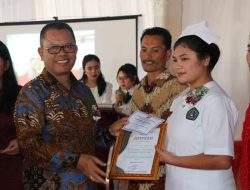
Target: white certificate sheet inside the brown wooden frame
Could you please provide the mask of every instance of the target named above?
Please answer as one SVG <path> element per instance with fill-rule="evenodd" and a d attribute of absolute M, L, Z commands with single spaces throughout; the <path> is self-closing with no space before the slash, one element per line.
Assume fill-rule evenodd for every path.
<path fill-rule="evenodd" d="M 150 174 L 160 128 L 147 135 L 131 133 L 126 148 L 118 155 L 116 167 L 124 173 Z"/>

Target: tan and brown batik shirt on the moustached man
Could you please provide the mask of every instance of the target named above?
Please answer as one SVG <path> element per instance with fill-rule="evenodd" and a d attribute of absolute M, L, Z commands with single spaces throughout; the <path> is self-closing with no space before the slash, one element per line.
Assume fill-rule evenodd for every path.
<path fill-rule="evenodd" d="M 146 83 L 147 77 L 144 77 L 134 90 L 131 101 L 132 112 L 141 110 L 167 119 L 172 101 L 186 86 L 181 85 L 167 69 L 156 77 L 152 82 L 154 86 L 148 92 L 146 92 Z"/>

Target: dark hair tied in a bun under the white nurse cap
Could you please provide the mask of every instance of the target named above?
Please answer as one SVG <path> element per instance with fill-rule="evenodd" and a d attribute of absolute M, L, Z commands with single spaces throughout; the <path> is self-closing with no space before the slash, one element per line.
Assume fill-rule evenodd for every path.
<path fill-rule="evenodd" d="M 179 38 L 174 44 L 174 50 L 178 46 L 187 46 L 189 49 L 194 51 L 198 57 L 198 59 L 202 60 L 210 57 L 210 62 L 208 65 L 208 70 L 211 72 L 219 60 L 220 57 L 220 49 L 214 44 L 208 44 L 200 37 L 195 35 L 183 36 Z"/>

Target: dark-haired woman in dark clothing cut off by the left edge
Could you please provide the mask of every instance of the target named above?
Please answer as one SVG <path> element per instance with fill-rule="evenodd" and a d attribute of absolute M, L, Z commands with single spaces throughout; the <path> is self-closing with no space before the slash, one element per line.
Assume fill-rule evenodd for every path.
<path fill-rule="evenodd" d="M 22 184 L 22 159 L 13 121 L 17 84 L 9 50 L 0 41 L 0 187 L 19 190 Z"/>

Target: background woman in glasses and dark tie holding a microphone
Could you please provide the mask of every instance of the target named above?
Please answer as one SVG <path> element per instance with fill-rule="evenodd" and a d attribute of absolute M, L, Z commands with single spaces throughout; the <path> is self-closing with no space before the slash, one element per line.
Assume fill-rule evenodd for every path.
<path fill-rule="evenodd" d="M 131 97 L 135 86 L 139 83 L 137 69 L 134 65 L 126 63 L 117 71 L 119 89 L 115 92 L 115 107 L 118 112 L 125 115 L 131 113 Z"/>

